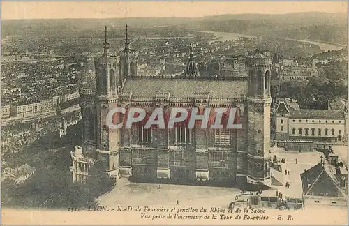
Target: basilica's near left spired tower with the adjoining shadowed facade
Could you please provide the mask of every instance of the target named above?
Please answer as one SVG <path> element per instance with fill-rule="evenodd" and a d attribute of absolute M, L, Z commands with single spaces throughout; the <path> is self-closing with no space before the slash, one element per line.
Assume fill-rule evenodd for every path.
<path fill-rule="evenodd" d="M 119 130 L 107 126 L 107 113 L 118 107 L 119 57 L 110 52 L 105 27 L 103 54 L 94 61 L 96 68 L 96 96 L 84 101 L 82 118 L 84 120 L 84 145 L 82 151 L 105 166 L 114 174 L 119 168 Z"/>

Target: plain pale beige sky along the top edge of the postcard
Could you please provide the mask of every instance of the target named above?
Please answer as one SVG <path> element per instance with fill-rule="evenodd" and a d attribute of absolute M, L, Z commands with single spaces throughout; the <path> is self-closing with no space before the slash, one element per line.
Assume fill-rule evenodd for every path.
<path fill-rule="evenodd" d="M 347 1 L 1 1 L 1 19 L 202 17 L 348 12 Z"/>

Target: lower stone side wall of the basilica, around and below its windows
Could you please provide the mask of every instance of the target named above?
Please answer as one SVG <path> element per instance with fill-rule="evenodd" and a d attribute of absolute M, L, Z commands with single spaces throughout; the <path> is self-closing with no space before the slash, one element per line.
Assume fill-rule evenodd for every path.
<path fill-rule="evenodd" d="M 174 144 L 174 130 L 154 130 L 151 143 L 138 144 L 137 128 L 121 129 L 120 166 L 132 166 L 132 175 L 138 180 L 154 180 L 156 169 L 170 169 L 174 181 L 183 177 L 186 181 L 196 181 L 195 172 L 204 170 L 209 172 L 210 179 L 235 183 L 237 164 L 239 172 L 244 172 L 247 166 L 246 157 L 241 155 L 246 151 L 246 119 L 242 123 L 244 129 L 230 133 L 230 146 L 225 147 L 215 145 L 212 129 L 191 130 L 191 144 L 185 146 Z"/>

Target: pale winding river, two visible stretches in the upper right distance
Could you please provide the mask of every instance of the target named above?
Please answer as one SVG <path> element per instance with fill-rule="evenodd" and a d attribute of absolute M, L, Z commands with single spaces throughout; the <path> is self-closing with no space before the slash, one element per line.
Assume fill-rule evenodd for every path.
<path fill-rule="evenodd" d="M 244 34 L 240 33 L 229 33 L 229 32 L 216 32 L 216 31 L 195 31 L 195 32 L 206 32 L 206 33 L 213 33 L 218 40 L 225 41 L 225 40 L 234 40 L 238 39 L 239 37 L 247 37 L 247 38 L 255 38 L 254 36 L 246 36 Z M 285 38 L 285 40 L 294 40 L 297 42 L 303 42 L 303 43 L 311 43 L 313 45 L 318 45 L 320 47 L 320 50 L 327 52 L 328 50 L 341 50 L 343 46 L 341 45 L 333 45 L 329 43 L 320 43 L 318 41 L 314 40 L 298 40 L 298 39 L 290 39 Z"/>

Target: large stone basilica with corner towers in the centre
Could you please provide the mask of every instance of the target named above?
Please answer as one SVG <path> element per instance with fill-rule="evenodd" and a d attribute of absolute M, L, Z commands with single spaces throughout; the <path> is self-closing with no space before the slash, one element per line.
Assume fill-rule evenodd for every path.
<path fill-rule="evenodd" d="M 246 73 L 208 77 L 200 76 L 189 47 L 183 75 L 142 77 L 127 29 L 124 50 L 116 55 L 110 52 L 105 27 L 104 52 L 94 61 L 96 77 L 80 89 L 84 128 L 82 146 L 71 152 L 73 181 L 83 183 L 89 167 L 98 161 L 110 176 L 143 182 L 270 185 L 272 54 L 248 52 Z M 142 107 L 148 112 L 158 107 L 164 112 L 172 107 L 236 107 L 242 128 L 202 129 L 200 123 L 188 128 L 182 123 L 171 129 L 147 129 L 137 123 L 131 129 L 111 130 L 106 115 L 113 107 Z"/>

